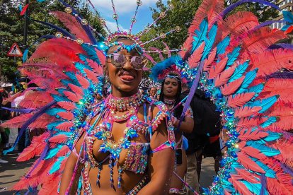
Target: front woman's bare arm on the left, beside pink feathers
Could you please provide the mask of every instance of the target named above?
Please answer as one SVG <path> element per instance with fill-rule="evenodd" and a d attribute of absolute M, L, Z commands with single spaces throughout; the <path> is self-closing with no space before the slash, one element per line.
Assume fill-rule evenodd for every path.
<path fill-rule="evenodd" d="M 84 143 L 84 136 L 81 136 L 79 141 L 76 143 L 76 153 L 79 154 L 79 151 L 81 150 L 81 146 Z M 82 154 L 82 151 L 81 151 Z M 83 155 L 81 155 L 81 158 L 83 158 Z M 64 167 L 64 171 L 62 173 L 62 179 L 60 184 L 60 191 L 59 194 L 65 194 L 67 191 L 67 188 L 69 187 L 69 184 L 71 182 L 71 178 L 74 175 L 74 167 L 76 165 L 77 156 L 74 154 L 74 152 L 71 152 L 69 155 L 69 158 L 67 159 L 66 165 Z M 78 169 L 76 170 L 76 175 L 74 176 L 74 182 L 72 184 L 71 189 L 69 190 L 69 194 L 76 194 L 76 190 L 79 183 L 79 177 L 81 175 L 81 164 L 78 165 Z"/>

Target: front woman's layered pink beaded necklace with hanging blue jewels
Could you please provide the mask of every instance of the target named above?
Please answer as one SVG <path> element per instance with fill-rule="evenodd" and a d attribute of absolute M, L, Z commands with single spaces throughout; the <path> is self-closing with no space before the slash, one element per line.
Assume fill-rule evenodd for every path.
<path fill-rule="evenodd" d="M 141 93 L 134 94 L 127 98 L 116 98 L 113 95 L 109 95 L 105 99 L 105 107 L 108 109 L 104 116 L 104 120 L 101 124 L 96 126 L 91 135 L 95 136 L 103 143 L 100 144 L 100 152 L 110 153 L 109 155 L 109 167 L 110 167 L 110 184 L 113 187 L 113 167 L 119 160 L 122 149 L 130 148 L 130 138 L 138 136 L 137 126 L 134 124 L 134 118 L 139 110 L 139 107 L 146 101 L 146 97 Z M 120 112 L 119 115 L 117 112 Z M 123 112 L 123 113 L 121 113 Z M 124 135 L 116 142 L 113 141 L 112 128 L 114 122 L 125 122 L 126 128 L 123 131 Z M 98 166 L 97 184 L 100 180 L 101 165 Z M 122 167 L 118 167 L 118 187 L 121 187 L 121 175 Z"/>

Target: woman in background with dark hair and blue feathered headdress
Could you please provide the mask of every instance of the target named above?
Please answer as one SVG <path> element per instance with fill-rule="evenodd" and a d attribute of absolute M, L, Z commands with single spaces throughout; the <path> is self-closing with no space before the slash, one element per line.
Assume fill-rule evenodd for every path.
<path fill-rule="evenodd" d="M 168 67 L 167 69 L 161 71 L 159 75 L 157 69 L 159 69 L 161 64 L 156 64 L 152 69 L 151 76 L 154 77 L 155 81 L 161 81 L 161 93 L 159 100 L 163 102 L 170 112 L 172 113 L 173 126 L 176 128 L 176 160 L 174 166 L 174 175 L 171 180 L 170 194 L 184 194 L 183 179 L 187 169 L 187 161 L 185 149 L 188 147 L 186 140 L 182 135 L 182 132 L 190 134 L 193 131 L 193 111 L 190 107 L 184 114 L 184 119 L 180 122 L 180 116 L 183 111 L 183 105 L 180 102 L 181 95 L 181 76 L 180 70 L 176 69 L 176 66 Z M 179 124 L 180 123 L 180 124 Z M 180 125 L 180 126 L 179 126 Z M 176 174 L 176 175 L 175 175 Z M 180 177 L 180 178 L 178 178 Z"/>

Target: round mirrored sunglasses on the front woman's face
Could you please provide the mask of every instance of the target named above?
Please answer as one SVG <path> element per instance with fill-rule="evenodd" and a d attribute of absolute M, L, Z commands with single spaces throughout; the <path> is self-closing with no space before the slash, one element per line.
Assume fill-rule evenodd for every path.
<path fill-rule="evenodd" d="M 144 66 L 146 65 L 146 57 L 142 56 L 129 56 L 124 54 L 110 54 L 108 57 L 111 59 L 111 63 L 117 68 L 122 69 L 123 66 L 127 61 L 130 61 L 130 65 L 134 70 L 141 71 L 144 69 Z M 130 59 L 127 59 L 126 57 L 129 57 Z"/>

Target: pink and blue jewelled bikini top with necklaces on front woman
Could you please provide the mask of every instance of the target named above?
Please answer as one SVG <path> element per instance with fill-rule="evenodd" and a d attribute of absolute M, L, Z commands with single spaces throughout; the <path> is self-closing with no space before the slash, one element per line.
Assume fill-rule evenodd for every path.
<path fill-rule="evenodd" d="M 131 99 L 131 101 L 129 101 Z M 125 101 L 126 100 L 126 101 Z M 175 148 L 175 136 L 173 134 L 173 124 L 171 122 L 171 115 L 168 108 L 161 102 L 155 102 L 146 95 L 137 94 L 121 100 L 118 98 L 108 97 L 105 101 L 100 102 L 93 109 L 86 119 L 84 130 L 87 132 L 86 143 L 86 156 L 85 161 L 91 167 L 98 168 L 98 175 L 96 184 L 99 184 L 100 171 L 103 163 L 108 160 L 110 167 L 110 185 L 113 187 L 113 167 L 118 166 L 118 179 L 117 186 L 121 187 L 121 175 L 124 170 L 135 172 L 136 174 L 144 174 L 147 167 L 147 160 L 149 153 L 154 153 L 165 148 Z M 126 103 L 125 103 L 126 102 Z M 146 109 L 146 103 L 149 103 L 149 110 Z M 140 106 L 144 107 L 144 121 L 137 117 L 137 112 Z M 154 119 L 151 119 L 151 106 L 154 105 L 159 108 L 159 112 Z M 103 112 L 101 112 L 103 110 Z M 122 116 L 115 115 L 116 111 L 127 112 Z M 90 124 L 92 119 L 96 117 L 96 121 Z M 150 150 L 149 142 L 151 135 L 156 131 L 157 127 L 163 119 L 166 119 L 166 126 L 168 131 L 168 141 L 154 150 Z M 98 124 L 98 121 L 100 123 Z M 126 122 L 124 136 L 113 141 L 112 127 L 114 122 Z M 144 135 L 146 143 L 132 142 L 132 138 Z M 93 157 L 93 142 L 98 139 L 102 140 L 99 152 L 109 153 L 105 160 L 97 162 Z M 117 161 L 120 158 L 122 149 L 127 149 L 127 156 L 123 165 L 119 165 Z M 86 175 L 85 175 L 86 176 Z M 88 184 L 89 185 L 89 184 Z M 88 187 L 90 189 L 90 187 Z"/>

